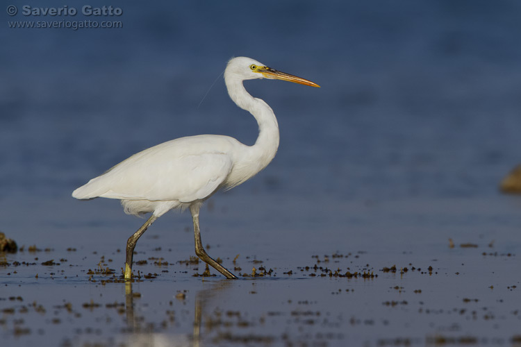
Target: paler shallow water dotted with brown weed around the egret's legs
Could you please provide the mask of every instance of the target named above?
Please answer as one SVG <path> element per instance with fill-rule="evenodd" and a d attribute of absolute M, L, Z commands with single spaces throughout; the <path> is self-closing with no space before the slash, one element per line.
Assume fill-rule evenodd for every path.
<path fill-rule="evenodd" d="M 3 343 L 521 344 L 521 245 L 512 241 L 518 239 L 520 219 L 515 199 L 337 205 L 329 216 L 315 212 L 315 223 L 337 218 L 342 225 L 353 216 L 357 221 L 338 230 L 320 230 L 307 221 L 320 232 L 303 229 L 313 209 L 305 203 L 281 221 L 281 228 L 288 228 L 281 230 L 255 219 L 247 206 L 223 210 L 233 205 L 233 196 L 217 201 L 206 209 L 203 240 L 210 255 L 220 257 L 239 280 L 201 277 L 205 266 L 193 257 L 191 230 L 185 230 L 188 224 L 181 227 L 190 217 L 169 214 L 138 243 L 136 278 L 125 283 L 122 246 L 128 232 L 110 219 L 123 226 L 140 221 L 117 214 L 117 204 L 100 201 L 82 209 L 79 221 L 53 225 L 56 232 L 47 242 L 22 245 L 22 237 L 18 253 L 1 256 Z M 262 196 L 257 201 L 262 203 Z M 65 212 L 84 205 L 71 206 Z M 36 208 L 35 214 L 44 218 L 48 208 L 56 205 Z M 91 213 L 109 219 L 108 225 L 92 226 Z M 226 232 L 214 225 L 225 219 L 236 222 Z M 41 222 L 42 230 L 56 224 Z M 296 227 L 288 227 L 292 224 Z M 71 225 L 76 225 L 74 235 Z"/>

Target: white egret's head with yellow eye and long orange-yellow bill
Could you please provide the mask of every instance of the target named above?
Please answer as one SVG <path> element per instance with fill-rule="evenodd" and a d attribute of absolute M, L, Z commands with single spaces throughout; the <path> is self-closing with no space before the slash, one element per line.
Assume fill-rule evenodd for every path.
<path fill-rule="evenodd" d="M 246 57 L 232 58 L 228 62 L 226 71 L 224 71 L 224 77 L 236 78 L 241 81 L 253 80 L 255 78 L 270 78 L 272 80 L 289 81 L 301 85 L 310 85 L 311 87 L 320 87 L 320 85 L 304 78 L 277 71 L 271 67 L 267 67 L 262 62 Z"/>

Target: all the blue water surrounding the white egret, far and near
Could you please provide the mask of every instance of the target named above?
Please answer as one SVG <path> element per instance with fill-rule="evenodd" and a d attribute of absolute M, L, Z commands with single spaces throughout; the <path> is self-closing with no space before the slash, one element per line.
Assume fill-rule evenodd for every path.
<path fill-rule="evenodd" d="M 0 230 L 24 246 L 0 255 L 2 346 L 521 344 L 521 200 L 497 192 L 520 161 L 518 2 L 161 6 L 126 1 L 119 30 L 0 31 Z M 143 220 L 70 193 L 175 137 L 254 143 L 231 56 L 322 86 L 246 83 L 279 153 L 201 211 L 240 280 L 194 277 L 191 219 L 169 213 L 125 285 Z"/>

